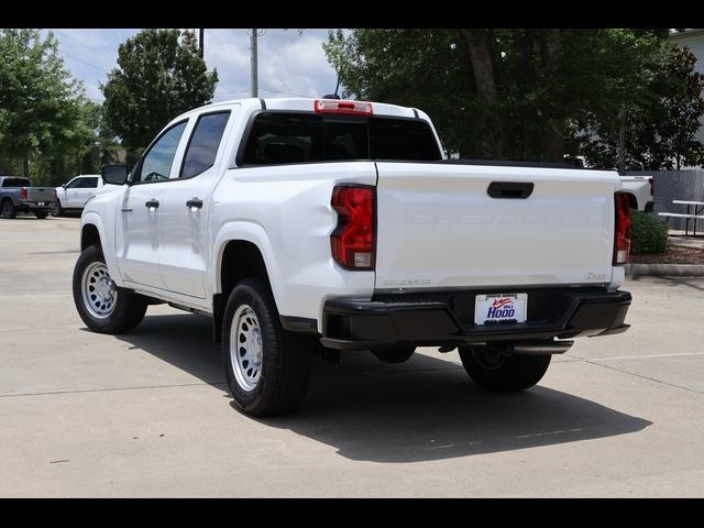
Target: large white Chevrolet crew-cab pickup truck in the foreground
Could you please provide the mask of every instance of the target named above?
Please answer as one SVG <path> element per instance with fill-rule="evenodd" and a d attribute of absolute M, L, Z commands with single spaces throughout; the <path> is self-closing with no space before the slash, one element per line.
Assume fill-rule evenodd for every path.
<path fill-rule="evenodd" d="M 74 299 L 94 331 L 147 305 L 212 317 L 238 407 L 302 399 L 311 355 L 459 349 L 482 387 L 538 383 L 619 333 L 628 199 L 615 172 L 444 160 L 422 111 L 244 99 L 174 119 L 86 205 Z"/>

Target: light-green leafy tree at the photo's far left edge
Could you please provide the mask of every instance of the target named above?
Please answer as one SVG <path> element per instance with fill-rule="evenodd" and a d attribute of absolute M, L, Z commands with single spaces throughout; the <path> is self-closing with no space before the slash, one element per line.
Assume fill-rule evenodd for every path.
<path fill-rule="evenodd" d="M 82 86 L 64 67 L 58 44 L 50 32 L 0 32 L 0 151 L 6 163 L 30 160 L 42 152 L 59 151 L 77 134 Z"/>

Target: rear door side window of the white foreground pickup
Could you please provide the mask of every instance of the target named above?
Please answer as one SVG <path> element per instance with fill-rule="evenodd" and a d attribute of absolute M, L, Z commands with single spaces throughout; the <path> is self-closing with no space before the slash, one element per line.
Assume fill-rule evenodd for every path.
<path fill-rule="evenodd" d="M 208 113 L 198 118 L 186 148 L 179 178 L 193 178 L 212 167 L 228 119 L 230 119 L 229 111 Z"/>

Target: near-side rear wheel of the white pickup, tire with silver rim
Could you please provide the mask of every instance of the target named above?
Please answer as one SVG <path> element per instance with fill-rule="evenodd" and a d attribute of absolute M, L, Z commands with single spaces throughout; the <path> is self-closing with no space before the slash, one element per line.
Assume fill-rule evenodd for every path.
<path fill-rule="evenodd" d="M 258 327 L 258 346 L 261 350 L 260 363 L 257 364 L 258 377 L 251 378 L 251 386 L 246 387 L 245 382 L 238 381 L 235 369 L 242 376 L 248 364 L 235 364 L 246 362 L 244 358 L 248 352 L 240 346 L 245 341 L 244 334 L 237 338 L 238 349 L 234 354 L 240 354 L 238 359 L 230 353 L 231 332 L 241 332 L 242 326 L 233 330 L 233 318 L 239 314 L 254 312 L 255 322 Z M 250 311 L 251 310 L 251 311 Z M 246 316 L 242 316 L 246 318 Z M 244 324 L 245 327 L 245 324 Z M 244 330 L 248 330 L 245 327 Z M 222 362 L 230 394 L 234 398 L 237 407 L 252 416 L 275 416 L 294 410 L 306 395 L 308 381 L 310 378 L 310 367 L 312 361 L 314 340 L 310 336 L 288 332 L 283 329 L 278 319 L 278 310 L 274 302 L 274 297 L 268 285 L 260 279 L 248 278 L 238 284 L 230 293 L 222 321 Z M 253 363 L 254 364 L 254 363 Z"/>

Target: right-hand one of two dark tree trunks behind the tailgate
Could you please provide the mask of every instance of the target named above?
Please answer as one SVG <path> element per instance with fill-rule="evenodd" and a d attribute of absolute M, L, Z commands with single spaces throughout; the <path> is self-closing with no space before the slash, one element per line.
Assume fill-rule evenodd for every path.
<path fill-rule="evenodd" d="M 548 82 L 560 76 L 560 56 L 562 54 L 562 36 L 560 30 L 543 30 L 540 41 L 542 63 Z M 549 108 L 548 128 L 543 138 L 543 155 L 549 162 L 561 162 L 564 158 L 564 109 L 554 97 Z"/>

